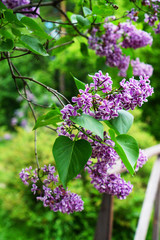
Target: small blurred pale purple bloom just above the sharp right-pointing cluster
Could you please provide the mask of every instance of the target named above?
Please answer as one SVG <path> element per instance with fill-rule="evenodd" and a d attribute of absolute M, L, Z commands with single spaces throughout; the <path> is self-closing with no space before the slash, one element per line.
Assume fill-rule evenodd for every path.
<path fill-rule="evenodd" d="M 131 66 L 133 67 L 134 76 L 148 76 L 151 77 L 153 74 L 153 67 L 150 64 L 145 64 L 139 61 L 139 58 L 131 61 Z"/>

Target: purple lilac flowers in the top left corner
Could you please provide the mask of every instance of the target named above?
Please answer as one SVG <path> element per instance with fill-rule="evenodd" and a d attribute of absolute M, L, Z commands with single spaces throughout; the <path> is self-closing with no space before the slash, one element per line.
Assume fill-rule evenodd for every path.
<path fill-rule="evenodd" d="M 8 8 L 15 8 L 18 6 L 26 5 L 29 4 L 29 0 L 2 0 L 2 3 L 4 3 Z M 32 8 L 26 8 L 22 9 L 22 12 L 34 12 L 35 7 Z M 39 9 L 36 9 L 36 13 L 39 14 Z M 25 13 L 26 16 L 28 17 L 36 17 L 36 14 L 31 14 L 31 13 Z"/>

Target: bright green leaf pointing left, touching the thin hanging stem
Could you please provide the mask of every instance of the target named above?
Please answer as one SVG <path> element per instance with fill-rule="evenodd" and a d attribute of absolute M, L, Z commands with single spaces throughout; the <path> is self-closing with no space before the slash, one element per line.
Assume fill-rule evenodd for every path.
<path fill-rule="evenodd" d="M 33 130 L 50 124 L 57 127 L 57 123 L 62 121 L 60 117 L 58 109 L 51 110 L 37 119 Z"/>

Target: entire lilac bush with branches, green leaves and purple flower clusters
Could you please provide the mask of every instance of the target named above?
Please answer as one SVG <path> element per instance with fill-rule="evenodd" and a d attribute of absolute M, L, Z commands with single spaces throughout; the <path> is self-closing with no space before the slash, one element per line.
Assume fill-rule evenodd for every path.
<path fill-rule="evenodd" d="M 119 199 L 125 199 L 132 191 L 133 186 L 130 182 L 126 182 L 119 173 L 114 172 L 117 163 L 122 161 L 121 167 L 125 167 L 131 174 L 134 174 L 147 161 L 143 151 L 138 149 L 135 139 L 126 134 L 133 120 L 128 110 L 133 110 L 137 106 L 141 107 L 153 93 L 149 79 L 153 73 L 153 67 L 140 62 L 139 58 L 134 60 L 126 54 L 126 49 L 135 50 L 147 45 L 151 46 L 153 42 L 153 38 L 149 33 L 137 29 L 131 22 L 136 22 L 139 19 L 137 9 L 132 8 L 130 11 L 127 11 L 126 16 L 130 18 L 130 21 L 118 22 L 116 25 L 113 23 L 117 20 L 115 16 L 108 16 L 105 20 L 100 16 L 102 17 L 100 19 L 104 22 L 97 24 L 96 19 L 98 15 L 95 15 L 94 12 L 92 13 L 92 9 L 94 8 L 92 8 L 90 1 L 90 9 L 82 6 L 83 16 L 74 16 L 76 22 L 73 23 L 72 16 L 69 17 L 59 8 L 60 1 L 54 4 L 52 2 L 47 3 L 47 6 L 52 5 L 56 11 L 65 17 L 63 27 L 66 28 L 66 34 L 70 34 L 71 27 L 74 30 L 74 37 L 81 36 L 85 40 L 87 39 L 89 47 L 95 50 L 97 55 L 106 57 L 107 66 L 119 69 L 120 76 L 126 77 L 129 65 L 133 68 L 134 76 L 128 80 L 122 79 L 117 89 L 113 87 L 113 81 L 109 74 L 103 74 L 102 71 L 90 75 L 92 79 L 90 84 L 85 85 L 78 80 L 78 84 L 80 85 L 78 87 L 78 95 L 72 97 L 72 101 L 70 102 L 57 90 L 46 86 L 44 83 L 38 82 L 31 77 L 21 76 L 12 63 L 12 58 L 30 53 L 48 56 L 52 50 L 54 54 L 55 48 L 72 44 L 74 41 L 71 40 L 59 45 L 56 42 L 57 38 L 55 37 L 54 39 L 53 36 L 49 36 L 33 19 L 23 19 L 22 17 L 19 20 L 14 15 L 14 13 L 24 13 L 31 17 L 38 16 L 42 22 L 49 22 L 39 15 L 39 9 L 35 7 L 36 5 L 45 6 L 46 3 L 44 4 L 43 2 L 42 4 L 42 1 L 39 1 L 37 4 L 32 5 L 32 1 L 29 0 L 3 0 L 2 2 L 8 8 L 13 9 L 13 11 L 8 11 L 1 4 L 2 16 L 4 15 L 5 18 L 8 12 L 11 20 L 14 19 L 19 27 L 24 27 L 24 32 L 23 29 L 22 33 L 17 31 L 18 34 L 16 31 L 12 31 L 14 36 L 8 39 L 2 31 L 1 49 L 4 49 L 1 50 L 1 60 L 7 60 L 18 93 L 21 98 L 24 98 L 28 102 L 31 108 L 35 119 L 34 130 L 38 127 L 48 127 L 48 125 L 53 124 L 56 129 L 49 128 L 58 134 L 53 145 L 53 156 L 56 163 L 55 169 L 52 165 L 39 166 L 35 131 L 37 168 L 32 169 L 32 167 L 29 167 L 22 169 L 19 174 L 22 182 L 31 187 L 31 192 L 36 196 L 38 201 L 43 203 L 44 207 L 49 207 L 54 212 L 60 211 L 70 214 L 83 210 L 81 197 L 76 193 L 71 193 L 67 188 L 67 183 L 70 180 L 81 177 L 82 170 L 88 172 L 91 184 L 99 192 L 115 195 Z M 154 28 L 155 33 L 160 32 L 160 25 L 159 23 L 157 24 L 160 11 L 159 2 L 158 0 L 141 1 L 142 6 L 150 9 L 150 11 L 146 12 L 144 21 Z M 26 6 L 23 7 L 26 4 L 31 5 L 26 9 Z M 106 7 L 106 3 L 104 6 Z M 116 5 L 112 5 L 111 7 L 118 9 Z M 7 29 L 9 24 L 11 24 L 12 29 L 15 27 L 14 21 L 9 22 L 9 18 L 6 18 L 4 22 L 2 19 L 1 25 L 4 27 L 4 30 Z M 52 22 L 59 26 L 62 24 L 62 22 Z M 58 35 L 60 36 L 61 27 L 57 25 L 56 27 L 59 29 Z M 64 28 L 62 29 L 64 30 Z M 29 29 L 27 31 L 29 35 L 26 35 L 26 29 Z M 35 36 L 32 35 L 32 32 L 34 32 Z M 39 41 L 40 37 L 43 39 L 42 42 Z M 20 43 L 23 48 L 19 47 L 17 43 Z M 84 46 L 87 47 L 83 42 L 81 44 L 82 51 L 84 50 Z M 14 51 L 22 51 L 24 53 L 13 56 L 12 53 Z M 135 76 L 138 76 L 138 80 L 135 79 Z M 16 82 L 18 80 L 22 81 L 22 93 L 21 89 L 19 89 L 19 83 Z M 32 104 L 40 107 L 46 106 L 34 102 L 36 99 L 30 91 L 27 81 L 38 84 L 52 93 L 63 106 L 61 111 L 56 105 L 52 105 L 49 107 L 51 108 L 50 112 L 37 119 Z M 65 104 L 66 102 L 67 104 Z M 26 119 L 22 117 L 23 113 L 17 111 L 11 120 L 12 126 L 19 123 L 25 127 Z M 127 121 L 125 118 L 127 118 Z M 108 132 L 104 130 L 104 124 L 108 126 Z M 122 128 L 119 125 L 122 125 Z M 130 150 L 133 154 L 130 154 Z M 58 171 L 58 175 L 56 170 Z"/>

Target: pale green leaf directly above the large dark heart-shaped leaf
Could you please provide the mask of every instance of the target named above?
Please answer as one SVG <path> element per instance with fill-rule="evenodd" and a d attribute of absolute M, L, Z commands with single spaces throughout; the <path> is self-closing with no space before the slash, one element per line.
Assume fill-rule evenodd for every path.
<path fill-rule="evenodd" d="M 87 130 L 90 130 L 92 133 L 98 135 L 101 139 L 104 139 L 104 136 L 103 136 L 104 127 L 102 123 L 100 123 L 94 117 L 82 113 L 81 116 L 70 117 L 70 119 L 71 121 L 78 124 L 79 126 Z"/>

